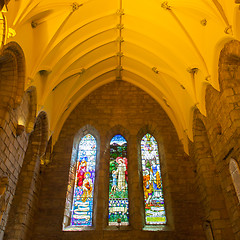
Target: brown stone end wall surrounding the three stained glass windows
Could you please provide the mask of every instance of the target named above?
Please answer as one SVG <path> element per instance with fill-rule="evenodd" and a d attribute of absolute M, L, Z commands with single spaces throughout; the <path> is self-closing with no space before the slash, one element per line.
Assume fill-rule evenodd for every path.
<path fill-rule="evenodd" d="M 74 137 L 79 130 L 87 133 L 90 129 L 99 136 L 94 226 L 80 232 L 62 231 Z M 158 141 L 161 155 L 168 218 L 162 230 L 144 226 L 140 140 L 147 132 Z M 130 226 L 120 230 L 107 226 L 109 143 L 115 134 L 127 140 L 129 160 Z M 42 173 L 32 239 L 205 239 L 198 196 L 194 165 L 166 113 L 139 88 L 115 81 L 83 99 L 66 120 L 53 148 L 52 162 Z"/>

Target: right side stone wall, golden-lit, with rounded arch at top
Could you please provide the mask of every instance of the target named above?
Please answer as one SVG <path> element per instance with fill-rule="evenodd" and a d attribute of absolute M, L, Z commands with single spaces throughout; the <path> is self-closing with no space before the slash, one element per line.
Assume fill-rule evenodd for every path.
<path fill-rule="evenodd" d="M 239 238 L 239 208 L 228 170 L 229 158 L 239 155 L 240 136 L 240 42 L 226 43 L 218 64 L 220 92 L 206 90 L 207 118 L 199 117 L 207 129 L 215 168 L 219 175 L 232 231 Z"/>

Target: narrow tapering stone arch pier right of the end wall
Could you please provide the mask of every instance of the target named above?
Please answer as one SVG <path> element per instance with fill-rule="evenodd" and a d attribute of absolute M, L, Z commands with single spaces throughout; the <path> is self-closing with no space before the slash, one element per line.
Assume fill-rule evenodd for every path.
<path fill-rule="evenodd" d="M 209 222 L 211 224 L 214 239 L 234 239 L 229 217 L 226 213 L 226 204 L 217 166 L 204 125 L 204 117 L 198 110 L 194 114 L 193 140 L 196 184 L 200 194 L 200 202 L 204 209 L 203 223 Z M 220 222 L 222 224 L 219 224 Z"/>

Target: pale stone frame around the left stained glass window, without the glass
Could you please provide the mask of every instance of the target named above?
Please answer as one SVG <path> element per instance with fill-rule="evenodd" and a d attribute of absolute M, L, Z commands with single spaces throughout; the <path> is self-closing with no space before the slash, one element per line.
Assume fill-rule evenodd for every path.
<path fill-rule="evenodd" d="M 79 144 L 84 136 L 87 134 L 91 134 L 95 140 L 97 145 L 96 152 L 96 160 L 95 160 L 95 181 L 94 181 L 94 195 L 93 195 L 93 219 L 92 226 L 71 226 L 71 211 L 73 204 L 73 194 L 74 194 L 74 185 L 75 185 L 75 174 L 77 167 L 77 157 L 79 151 Z M 100 135 L 95 128 L 90 125 L 87 125 L 80 129 L 74 137 L 73 145 L 72 145 L 72 154 L 69 166 L 69 175 L 68 175 L 68 185 L 66 190 L 66 201 L 65 201 L 65 209 L 63 216 L 63 231 L 82 231 L 82 230 L 94 230 L 96 223 L 96 211 L 97 211 L 97 194 L 96 194 L 96 186 L 98 185 L 98 171 L 99 168 L 99 159 L 100 159 Z M 71 174 L 73 177 L 71 177 Z M 74 180 L 72 179 L 74 178 Z"/>

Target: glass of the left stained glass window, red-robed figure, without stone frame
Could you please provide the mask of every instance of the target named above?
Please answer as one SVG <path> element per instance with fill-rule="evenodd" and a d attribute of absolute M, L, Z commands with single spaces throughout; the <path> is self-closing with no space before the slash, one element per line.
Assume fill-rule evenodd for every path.
<path fill-rule="evenodd" d="M 96 146 L 91 134 L 85 135 L 79 143 L 71 226 L 92 226 Z"/>

